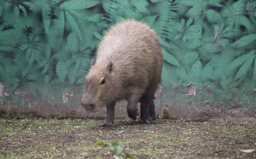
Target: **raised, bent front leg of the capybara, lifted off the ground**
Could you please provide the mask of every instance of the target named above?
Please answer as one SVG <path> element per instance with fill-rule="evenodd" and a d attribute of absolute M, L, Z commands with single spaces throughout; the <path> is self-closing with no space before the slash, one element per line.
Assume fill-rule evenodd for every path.
<path fill-rule="evenodd" d="M 139 116 L 139 110 L 137 107 L 138 100 L 134 98 L 134 96 L 131 96 L 128 100 L 127 104 L 127 113 L 128 116 L 134 120 L 137 119 L 137 116 Z"/>

